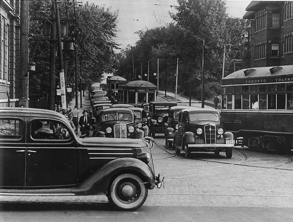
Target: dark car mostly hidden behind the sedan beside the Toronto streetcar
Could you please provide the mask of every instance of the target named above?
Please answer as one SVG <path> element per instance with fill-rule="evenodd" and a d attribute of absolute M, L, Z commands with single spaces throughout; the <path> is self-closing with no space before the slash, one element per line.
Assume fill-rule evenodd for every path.
<path fill-rule="evenodd" d="M 168 150 L 173 148 L 174 133 L 178 129 L 178 117 L 181 110 L 191 106 L 172 106 L 168 113 L 168 122 L 165 125 L 165 144 Z"/>

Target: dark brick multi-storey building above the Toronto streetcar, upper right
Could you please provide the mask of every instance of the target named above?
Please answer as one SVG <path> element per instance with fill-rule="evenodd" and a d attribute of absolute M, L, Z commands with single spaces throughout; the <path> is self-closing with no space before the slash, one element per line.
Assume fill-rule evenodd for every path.
<path fill-rule="evenodd" d="M 246 11 L 243 18 L 250 26 L 242 42 L 244 68 L 293 65 L 293 2 L 252 1 Z"/>

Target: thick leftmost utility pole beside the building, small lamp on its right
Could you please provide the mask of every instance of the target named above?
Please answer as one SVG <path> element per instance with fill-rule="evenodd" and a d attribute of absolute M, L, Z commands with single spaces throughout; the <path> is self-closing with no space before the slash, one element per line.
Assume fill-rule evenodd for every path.
<path fill-rule="evenodd" d="M 20 1 L 20 98 L 26 101 L 24 107 L 28 107 L 28 11 L 29 1 Z"/>

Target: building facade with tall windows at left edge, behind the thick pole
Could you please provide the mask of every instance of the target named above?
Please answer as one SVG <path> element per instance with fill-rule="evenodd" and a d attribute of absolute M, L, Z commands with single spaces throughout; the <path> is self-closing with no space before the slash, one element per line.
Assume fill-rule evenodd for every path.
<path fill-rule="evenodd" d="M 0 0 L 0 107 L 18 105 L 20 1 Z"/>

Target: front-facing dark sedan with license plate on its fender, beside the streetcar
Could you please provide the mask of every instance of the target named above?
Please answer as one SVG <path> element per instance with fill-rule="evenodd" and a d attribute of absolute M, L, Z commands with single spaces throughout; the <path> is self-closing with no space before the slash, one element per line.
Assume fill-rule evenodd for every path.
<path fill-rule="evenodd" d="M 216 156 L 225 152 L 231 158 L 234 143 L 233 133 L 224 132 L 220 124 L 218 110 L 194 107 L 180 111 L 173 139 L 176 154 L 184 151 L 189 158 L 191 152 L 214 152 Z"/>

